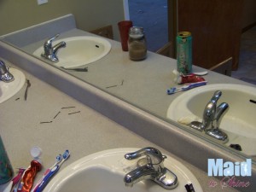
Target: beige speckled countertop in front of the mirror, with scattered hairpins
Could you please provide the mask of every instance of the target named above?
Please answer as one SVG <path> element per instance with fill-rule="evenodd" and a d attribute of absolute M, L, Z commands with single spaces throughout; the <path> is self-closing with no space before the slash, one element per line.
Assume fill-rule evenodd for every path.
<path fill-rule="evenodd" d="M 74 100 L 71 96 L 67 96 L 53 86 L 37 79 L 32 74 L 25 71 L 23 73 L 32 84 L 28 89 L 27 100 L 24 100 L 25 84 L 15 96 L 0 104 L 1 137 L 15 171 L 17 171 L 17 167 L 29 166 L 32 160 L 30 148 L 33 146 L 38 146 L 43 150 L 41 158 L 44 170 L 52 166 L 55 156 L 65 149 L 70 150 L 71 156 L 61 169 L 85 155 L 110 148 L 153 146 L 159 148 L 163 154 L 177 158 L 165 149 L 150 143 L 101 113 L 84 106 L 83 103 Z M 56 116 L 56 114 L 58 115 Z M 52 122 L 41 123 L 47 121 Z M 202 172 L 184 160 L 179 158 L 177 160 L 183 162 L 195 174 L 204 191 L 220 191 L 219 184 L 215 188 L 208 186 L 210 180 L 219 183 L 217 179 L 207 177 L 206 172 Z M 39 172 L 38 177 L 43 174 L 44 170 Z M 3 185 L 0 185 L 1 188 Z M 236 190 L 224 188 L 221 191 Z"/>

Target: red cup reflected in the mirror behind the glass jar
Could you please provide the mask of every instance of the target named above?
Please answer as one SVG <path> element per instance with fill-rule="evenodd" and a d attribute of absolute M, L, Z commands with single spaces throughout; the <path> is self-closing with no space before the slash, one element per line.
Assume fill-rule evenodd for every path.
<path fill-rule="evenodd" d="M 128 51 L 129 29 L 132 26 L 131 20 L 122 20 L 118 23 L 122 49 Z"/>

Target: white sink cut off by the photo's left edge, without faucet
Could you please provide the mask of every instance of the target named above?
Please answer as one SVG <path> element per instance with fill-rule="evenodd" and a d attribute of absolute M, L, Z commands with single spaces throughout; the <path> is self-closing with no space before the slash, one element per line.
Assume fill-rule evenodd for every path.
<path fill-rule="evenodd" d="M 15 77 L 15 80 L 4 83 L 0 81 L 0 103 L 7 101 L 23 87 L 26 81 L 24 73 L 20 72 L 18 69 L 9 68 L 9 72 Z"/>

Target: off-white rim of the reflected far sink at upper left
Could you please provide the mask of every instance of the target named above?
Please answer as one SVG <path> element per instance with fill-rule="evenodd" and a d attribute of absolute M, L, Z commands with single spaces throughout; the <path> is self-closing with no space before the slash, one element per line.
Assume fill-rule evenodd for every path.
<path fill-rule="evenodd" d="M 58 62 L 50 62 L 50 61 L 46 60 L 44 57 L 41 57 L 41 54 L 44 52 L 44 45 L 42 45 L 38 49 L 36 49 L 32 53 L 32 55 L 35 55 L 44 61 L 48 61 L 50 64 L 55 65 L 56 67 L 73 68 L 73 67 L 84 66 L 84 65 L 90 64 L 92 62 L 98 61 L 98 60 L 102 59 L 104 56 L 108 55 L 108 53 L 112 49 L 112 45 L 110 44 L 108 39 L 102 38 L 102 37 L 96 37 L 96 36 L 73 36 L 73 37 L 68 37 L 68 38 L 60 38 L 60 39 L 55 40 L 53 42 L 53 44 L 58 44 L 61 41 L 64 41 L 67 43 L 67 46 L 68 46 L 68 42 L 83 41 L 83 40 L 89 40 L 91 42 L 95 42 L 96 44 L 102 44 L 103 45 L 102 53 L 100 55 L 90 58 L 87 61 L 81 61 L 81 62 L 69 61 L 69 60 L 67 60 L 67 58 L 63 59 L 63 61 L 61 61 L 61 58 L 59 58 L 60 61 L 58 61 Z M 63 48 L 63 49 L 66 49 L 66 48 Z M 58 56 L 58 54 L 57 54 L 57 56 Z"/>

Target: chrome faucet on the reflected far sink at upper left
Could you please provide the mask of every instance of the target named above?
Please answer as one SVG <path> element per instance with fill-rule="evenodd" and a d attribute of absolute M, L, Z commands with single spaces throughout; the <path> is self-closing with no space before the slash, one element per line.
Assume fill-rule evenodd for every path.
<path fill-rule="evenodd" d="M 55 46 L 52 46 L 52 41 L 55 38 L 58 38 L 60 34 L 56 34 L 55 37 L 49 38 L 44 42 L 44 53 L 42 53 L 41 56 L 43 56 L 45 59 L 53 62 L 59 61 L 57 57 L 57 51 L 58 49 L 62 47 L 66 47 L 66 43 L 64 41 L 61 41 L 59 44 L 55 44 Z"/>

